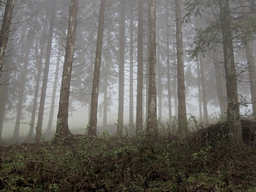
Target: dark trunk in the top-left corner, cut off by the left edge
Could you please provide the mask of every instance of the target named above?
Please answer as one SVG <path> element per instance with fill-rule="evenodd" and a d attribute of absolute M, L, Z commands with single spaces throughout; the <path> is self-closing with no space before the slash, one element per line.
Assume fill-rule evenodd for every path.
<path fill-rule="evenodd" d="M 14 7 L 14 0 L 7 0 L 5 11 L 4 11 L 4 18 L 2 20 L 2 28 L 0 33 L 0 85 L 1 85 L 1 76 L 2 76 L 2 69 L 4 67 L 4 56 L 7 47 L 10 26 L 11 26 L 11 19 L 13 15 L 13 7 Z"/>

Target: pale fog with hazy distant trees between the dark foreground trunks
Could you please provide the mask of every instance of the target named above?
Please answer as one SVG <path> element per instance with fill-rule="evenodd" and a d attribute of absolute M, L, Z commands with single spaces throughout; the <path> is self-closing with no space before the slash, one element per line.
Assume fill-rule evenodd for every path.
<path fill-rule="evenodd" d="M 38 120 L 40 119 L 38 118 L 39 116 L 43 120 L 39 125 L 43 134 L 47 132 L 47 126 L 50 126 L 48 131 L 51 132 L 51 135 L 56 132 L 57 114 L 60 110 L 61 84 L 62 79 L 65 79 L 63 65 L 68 60 L 66 49 L 66 42 L 69 39 L 67 38 L 68 26 L 72 25 L 69 22 L 72 17 L 70 15 L 69 0 L 65 2 L 56 0 L 55 3 L 54 5 L 49 0 L 20 1 L 22 8 L 19 8 L 19 6 L 14 7 L 6 53 L 1 58 L 4 61 L 4 67 L 0 81 L 0 132 L 2 133 L 0 140 L 3 139 L 3 142 L 11 141 L 11 139 L 12 142 L 19 142 L 20 138 L 25 141 L 29 130 L 33 130 L 31 126 L 34 127 L 32 134 L 34 139 L 36 127 L 40 124 L 38 124 L 40 122 Z M 230 6 L 239 10 L 238 4 Z M 6 4 L 1 1 L 0 7 L 2 13 L 0 20 L 4 23 Z M 76 29 L 76 31 L 73 46 L 74 54 L 70 63 L 72 68 L 71 83 L 70 87 L 66 87 L 66 89 L 70 94 L 68 128 L 74 134 L 85 133 L 87 131 L 86 127 L 89 125 L 94 65 L 99 62 L 96 58 L 97 51 L 99 51 L 96 48 L 99 38 L 99 33 L 97 33 L 99 29 L 99 11 L 99 0 L 80 0 L 76 25 L 73 23 L 75 28 L 73 26 L 72 29 Z M 218 121 L 220 116 L 227 115 L 227 107 L 221 109 L 221 107 L 227 105 L 224 51 L 220 43 L 222 42 L 221 33 L 216 34 L 217 32 L 214 32 L 216 37 L 212 39 L 212 36 L 208 37 L 210 38 L 209 41 L 212 42 L 209 43 L 209 47 L 204 47 L 204 50 L 200 49 L 204 53 L 200 52 L 197 58 L 193 57 L 193 52 L 191 52 L 195 48 L 196 39 L 200 38 L 200 30 L 207 29 L 213 22 L 218 22 L 216 17 L 219 15 L 219 11 L 218 9 L 215 11 L 211 7 L 207 7 L 200 18 L 194 17 L 190 18 L 189 22 L 182 22 L 187 119 L 195 116 L 197 121 L 202 123 L 204 127 Z M 116 132 L 114 129 L 117 129 L 117 125 L 114 124 L 118 123 L 117 119 L 120 113 L 118 109 L 120 109 L 119 88 L 121 86 L 124 87 L 124 117 L 121 123 L 128 125 L 129 120 L 132 119 L 129 113 L 131 110 L 130 103 L 132 102 L 132 126 L 136 125 L 137 70 L 139 66 L 139 59 L 137 58 L 139 47 L 138 13 L 137 0 L 106 0 L 103 17 L 102 51 L 100 54 L 97 134 L 101 134 L 108 127 L 107 125 L 111 125 L 112 133 Z M 184 1 L 181 4 L 181 13 L 182 16 L 187 13 Z M 237 11 L 237 13 L 232 13 L 232 16 L 236 18 L 239 14 L 241 13 Z M 255 16 L 255 12 L 250 12 L 250 16 Z M 142 121 L 145 129 L 148 115 L 147 101 L 150 70 L 148 64 L 150 58 L 148 52 L 148 2 L 143 3 L 142 17 L 143 74 L 139 75 L 143 76 Z M 155 27 L 157 118 L 164 123 L 168 123 L 173 119 L 170 116 L 178 117 L 178 60 L 175 22 L 174 2 L 171 0 L 157 1 Z M 124 28 L 121 26 L 124 26 Z M 218 30 L 216 29 L 216 31 Z M 241 29 L 241 31 L 243 30 Z M 252 103 L 254 103 L 251 97 L 252 87 L 250 87 L 252 81 L 249 80 L 247 44 L 243 42 L 248 37 L 239 36 L 237 33 L 240 33 L 240 31 L 234 32 L 235 41 L 233 45 L 240 114 L 245 118 L 252 119 Z M 255 29 L 251 37 L 253 40 L 252 60 L 255 61 Z M 122 45 L 122 40 L 124 40 L 124 45 Z M 122 46 L 124 51 L 121 51 Z M 72 46 L 69 49 L 72 49 Z M 216 52 L 217 57 L 215 58 L 214 54 Z M 122 62 L 124 63 L 123 77 L 121 76 Z M 49 64 L 48 73 L 47 63 Z M 255 73 L 255 63 L 253 67 Z M 199 69 L 202 70 L 200 71 Z M 167 73 L 167 71 L 169 72 Z M 120 84 L 122 80 L 124 85 Z M 131 85 L 132 89 L 130 88 Z M 43 92 L 44 86 L 46 88 L 45 93 Z M 131 100 L 130 94 L 133 95 L 133 100 Z M 171 96 L 171 100 L 168 100 L 168 96 Z M 67 102 L 65 99 L 64 101 Z M 171 111 L 169 111 L 169 106 L 171 106 Z M 54 113 L 50 114 L 51 111 Z M 49 117 L 53 118 L 52 123 L 49 123 Z"/>

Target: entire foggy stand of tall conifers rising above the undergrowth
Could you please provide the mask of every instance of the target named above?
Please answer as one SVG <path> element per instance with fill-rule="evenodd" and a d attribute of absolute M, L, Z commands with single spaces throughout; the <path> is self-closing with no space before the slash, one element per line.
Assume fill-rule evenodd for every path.
<path fill-rule="evenodd" d="M 254 0 L 1 0 L 0 140 L 256 120 Z M 115 125 L 116 123 L 116 125 Z M 86 129 L 87 129 L 86 128 Z"/>

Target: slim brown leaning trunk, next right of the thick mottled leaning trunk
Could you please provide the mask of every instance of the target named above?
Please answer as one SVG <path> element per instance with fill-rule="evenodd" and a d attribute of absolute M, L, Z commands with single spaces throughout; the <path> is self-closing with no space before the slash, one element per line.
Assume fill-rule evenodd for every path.
<path fill-rule="evenodd" d="M 98 97 L 99 97 L 99 76 L 101 70 L 101 51 L 103 42 L 104 30 L 104 14 L 105 14 L 106 0 L 101 0 L 99 10 L 99 24 L 97 34 L 97 45 L 95 55 L 94 74 L 92 81 L 92 99 L 88 135 L 97 136 L 97 112 L 98 112 Z"/>

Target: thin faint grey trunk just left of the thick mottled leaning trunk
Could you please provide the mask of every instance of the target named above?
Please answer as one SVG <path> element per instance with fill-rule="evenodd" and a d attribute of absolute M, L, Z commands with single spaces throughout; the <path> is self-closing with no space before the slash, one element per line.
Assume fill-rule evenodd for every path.
<path fill-rule="evenodd" d="M 59 45 L 60 48 L 60 45 Z M 55 75 L 54 75 L 54 83 L 53 83 L 53 90 L 52 90 L 52 100 L 51 100 L 51 108 L 50 108 L 50 114 L 49 114 L 49 121 L 48 125 L 45 131 L 45 136 L 49 136 L 52 131 L 52 121 L 53 121 L 53 116 L 54 116 L 54 105 L 55 105 L 55 99 L 56 99 L 56 91 L 57 91 L 57 83 L 58 83 L 58 71 L 59 71 L 59 66 L 60 66 L 60 49 L 58 49 L 58 56 L 56 58 L 56 68 L 55 68 Z"/>

